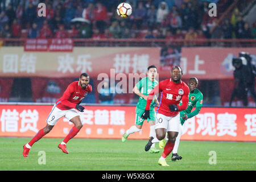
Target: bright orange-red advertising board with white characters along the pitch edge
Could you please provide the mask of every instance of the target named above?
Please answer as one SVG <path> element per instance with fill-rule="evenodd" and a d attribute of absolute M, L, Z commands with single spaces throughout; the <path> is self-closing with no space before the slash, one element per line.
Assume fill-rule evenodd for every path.
<path fill-rule="evenodd" d="M 135 124 L 135 107 L 85 106 L 83 127 L 77 138 L 121 139 Z M 34 137 L 46 126 L 52 106 L 0 105 L 0 137 Z M 46 137 L 65 137 L 73 123 L 60 118 Z M 130 139 L 148 139 L 150 127 L 144 123 L 140 133 Z M 204 107 L 183 125 L 181 140 L 220 140 L 256 142 L 255 109 Z"/>

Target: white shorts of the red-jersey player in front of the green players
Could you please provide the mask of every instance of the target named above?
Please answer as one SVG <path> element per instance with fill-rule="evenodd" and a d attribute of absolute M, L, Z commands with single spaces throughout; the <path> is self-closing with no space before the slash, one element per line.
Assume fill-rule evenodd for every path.
<path fill-rule="evenodd" d="M 167 131 L 180 131 L 180 113 L 172 116 L 156 114 L 155 129 L 166 129 Z"/>

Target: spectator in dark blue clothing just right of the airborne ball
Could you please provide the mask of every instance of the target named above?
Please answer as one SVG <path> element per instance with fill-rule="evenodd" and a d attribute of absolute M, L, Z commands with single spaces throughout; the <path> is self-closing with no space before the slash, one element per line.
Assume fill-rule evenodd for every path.
<path fill-rule="evenodd" d="M 134 23 L 137 29 L 141 29 L 144 19 L 146 18 L 147 10 L 143 7 L 143 2 L 138 3 L 138 8 L 134 11 Z"/>

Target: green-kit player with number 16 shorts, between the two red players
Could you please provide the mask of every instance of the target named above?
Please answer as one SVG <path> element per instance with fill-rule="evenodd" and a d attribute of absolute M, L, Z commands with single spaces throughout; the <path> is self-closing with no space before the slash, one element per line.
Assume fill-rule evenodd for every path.
<path fill-rule="evenodd" d="M 145 106 L 147 104 L 147 96 L 151 92 L 151 90 L 158 85 L 158 81 L 155 80 L 157 75 L 157 70 L 155 65 L 151 65 L 147 68 L 147 77 L 144 77 L 139 81 L 133 88 L 133 92 L 139 96 L 139 102 L 136 106 L 136 119 L 135 125 L 131 126 L 130 129 L 126 130 L 122 137 L 122 142 L 125 142 L 127 137 L 132 134 L 142 130 L 142 125 L 144 119 L 141 118 L 141 115 L 144 112 Z M 157 98 L 155 97 L 154 101 L 152 101 L 150 105 L 150 119 L 147 119 L 147 122 L 150 125 L 150 137 L 155 136 L 155 109 L 154 102 L 156 105 L 159 104 Z M 159 150 L 155 148 L 153 144 L 150 148 L 151 153 L 158 153 Z"/>

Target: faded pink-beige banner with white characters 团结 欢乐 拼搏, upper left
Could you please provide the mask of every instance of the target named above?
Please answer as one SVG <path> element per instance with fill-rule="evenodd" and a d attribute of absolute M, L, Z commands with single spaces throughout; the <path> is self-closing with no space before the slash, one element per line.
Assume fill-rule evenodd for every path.
<path fill-rule="evenodd" d="M 58 42 L 56 42 L 58 43 Z M 54 48 L 53 48 L 54 49 Z M 88 73 L 113 76 L 144 73 L 149 65 L 159 65 L 160 48 L 74 47 L 72 52 L 24 51 L 23 47 L 0 49 L 0 77 L 79 77 Z"/>

